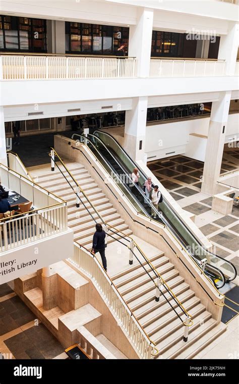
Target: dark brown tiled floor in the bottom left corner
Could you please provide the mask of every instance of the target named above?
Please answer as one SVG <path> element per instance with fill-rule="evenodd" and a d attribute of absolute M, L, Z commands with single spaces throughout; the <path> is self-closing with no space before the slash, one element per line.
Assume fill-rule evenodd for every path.
<path fill-rule="evenodd" d="M 52 359 L 64 352 L 7 283 L 0 285 L 0 352 L 15 359 Z"/>

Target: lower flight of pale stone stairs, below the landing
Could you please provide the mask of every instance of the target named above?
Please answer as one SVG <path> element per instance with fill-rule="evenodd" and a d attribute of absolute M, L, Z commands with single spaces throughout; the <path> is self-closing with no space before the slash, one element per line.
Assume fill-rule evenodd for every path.
<path fill-rule="evenodd" d="M 192 316 L 193 325 L 189 328 L 187 343 L 183 341 L 184 325 L 163 296 L 160 296 L 159 302 L 155 301 L 155 286 L 139 264 L 112 276 L 111 279 L 150 339 L 156 344 L 159 355 L 155 358 L 191 359 L 223 333 L 226 325 L 212 318 L 211 313 L 163 253 L 154 256 L 150 261 Z M 155 278 L 146 262 L 144 266 Z M 184 319 L 183 312 L 166 290 L 163 289 L 162 292 Z"/>

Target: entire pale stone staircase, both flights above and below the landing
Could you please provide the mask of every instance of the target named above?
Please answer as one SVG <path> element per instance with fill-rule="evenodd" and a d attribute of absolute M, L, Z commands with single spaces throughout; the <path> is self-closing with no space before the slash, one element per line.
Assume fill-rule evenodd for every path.
<path fill-rule="evenodd" d="M 117 213 L 117 210 L 102 193 L 84 166 L 71 162 L 66 163 L 66 165 L 104 220 L 121 230 L 125 235 L 132 234 L 132 230 Z M 61 169 L 66 179 L 70 181 L 71 177 L 62 166 Z M 84 197 L 82 201 L 86 204 L 89 212 L 82 203 L 80 203 L 80 208 L 76 208 L 76 195 L 66 179 L 56 168 L 54 172 L 47 171 L 38 176 L 37 182 L 67 201 L 68 225 L 74 231 L 74 240 L 87 249 L 91 249 L 95 221 L 90 217 L 89 212 L 97 222 L 100 220 Z M 71 184 L 74 185 L 72 181 Z M 120 238 L 117 235 L 114 237 Z M 108 236 L 108 243 L 113 241 L 114 239 Z M 147 254 L 147 243 L 144 243 Z M 180 273 L 163 252 L 157 250 L 157 254 L 149 257 L 149 259 L 174 295 L 192 316 L 193 325 L 189 328 L 187 343 L 183 341 L 183 323 L 162 295 L 159 302 L 155 301 L 155 285 L 139 263 L 121 269 L 111 276 L 111 279 L 149 338 L 156 344 L 159 355 L 155 358 L 191 359 L 219 337 L 226 330 L 226 326 L 212 318 L 211 313 L 206 310 L 200 299 L 195 296 L 194 291 L 190 289 L 190 285 L 180 276 Z M 143 266 L 155 278 L 145 261 Z M 178 315 L 185 319 L 185 315 L 166 290 L 163 289 L 162 292 Z"/>

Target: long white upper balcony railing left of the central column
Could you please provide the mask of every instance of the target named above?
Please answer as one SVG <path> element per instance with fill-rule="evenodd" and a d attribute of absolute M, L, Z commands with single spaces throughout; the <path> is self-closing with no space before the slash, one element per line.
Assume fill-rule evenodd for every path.
<path fill-rule="evenodd" d="M 1 56 L 0 79 L 103 79 L 135 77 L 135 58 Z M 2 76 L 1 76 L 2 74 Z"/>

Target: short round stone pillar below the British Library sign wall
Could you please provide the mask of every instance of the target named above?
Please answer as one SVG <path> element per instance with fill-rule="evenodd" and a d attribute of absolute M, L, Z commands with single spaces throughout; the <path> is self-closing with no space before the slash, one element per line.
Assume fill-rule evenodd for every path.
<path fill-rule="evenodd" d="M 49 310 L 56 304 L 56 274 L 51 274 L 50 266 L 44 267 L 41 274 L 43 308 Z"/>

